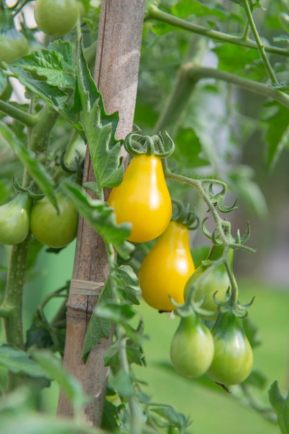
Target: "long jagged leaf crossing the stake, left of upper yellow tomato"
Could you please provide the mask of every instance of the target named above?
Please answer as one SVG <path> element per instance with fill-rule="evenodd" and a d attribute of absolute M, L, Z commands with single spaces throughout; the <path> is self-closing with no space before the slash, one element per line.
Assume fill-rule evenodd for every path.
<path fill-rule="evenodd" d="M 120 184 L 123 176 L 120 143 L 114 137 L 119 119 L 118 112 L 105 112 L 102 94 L 98 92 L 91 77 L 81 46 L 79 66 L 77 83 L 95 179 L 99 189 L 104 186 L 113 188 Z"/>

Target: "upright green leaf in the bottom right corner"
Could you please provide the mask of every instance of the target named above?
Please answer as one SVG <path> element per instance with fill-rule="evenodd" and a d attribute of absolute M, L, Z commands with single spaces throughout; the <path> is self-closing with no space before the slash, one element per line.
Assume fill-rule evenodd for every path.
<path fill-rule="evenodd" d="M 281 433 L 289 434 L 289 394 L 286 397 L 281 394 L 278 381 L 272 383 L 269 390 L 269 399 L 277 415 Z"/>

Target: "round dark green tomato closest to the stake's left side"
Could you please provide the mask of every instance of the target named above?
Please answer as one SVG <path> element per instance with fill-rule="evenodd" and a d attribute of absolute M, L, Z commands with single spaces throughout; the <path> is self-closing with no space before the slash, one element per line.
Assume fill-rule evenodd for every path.
<path fill-rule="evenodd" d="M 30 211 L 32 235 L 50 248 L 65 247 L 77 233 L 78 213 L 73 203 L 60 192 L 56 198 L 59 213 L 47 197 L 37 200 Z"/>

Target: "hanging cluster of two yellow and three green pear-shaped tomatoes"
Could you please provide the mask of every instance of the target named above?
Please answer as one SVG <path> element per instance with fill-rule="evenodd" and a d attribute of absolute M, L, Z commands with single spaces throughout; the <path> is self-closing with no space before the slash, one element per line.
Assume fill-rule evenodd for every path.
<path fill-rule="evenodd" d="M 131 223 L 129 241 L 156 238 L 138 277 L 147 304 L 160 312 L 178 308 L 180 324 L 170 348 L 176 371 L 189 378 L 207 374 L 222 385 L 244 381 L 252 370 L 253 354 L 239 312 L 227 304 L 234 274 L 229 278 L 226 266 L 232 270 L 233 249 L 227 252 L 225 266 L 224 245 L 213 245 L 195 270 L 189 248 L 192 220 L 185 209 L 171 219 L 171 198 L 156 155 L 133 157 L 108 202 L 117 223 Z M 237 300 L 237 286 L 234 292 Z M 210 324 L 214 321 L 211 330 L 204 322 L 208 319 Z"/>

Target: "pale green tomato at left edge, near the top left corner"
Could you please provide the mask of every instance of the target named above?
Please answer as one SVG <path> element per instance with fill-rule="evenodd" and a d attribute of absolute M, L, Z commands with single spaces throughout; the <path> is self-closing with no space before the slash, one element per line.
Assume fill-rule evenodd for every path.
<path fill-rule="evenodd" d="M 28 40 L 15 28 L 0 34 L 0 61 L 10 63 L 28 53 Z"/>

